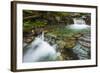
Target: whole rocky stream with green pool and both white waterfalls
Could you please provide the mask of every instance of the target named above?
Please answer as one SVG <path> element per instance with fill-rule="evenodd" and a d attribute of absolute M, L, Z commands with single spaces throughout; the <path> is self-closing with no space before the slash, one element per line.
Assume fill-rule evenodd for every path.
<path fill-rule="evenodd" d="M 38 36 L 33 36 L 30 43 L 24 42 L 23 62 L 90 59 L 90 26 L 82 19 L 74 22 L 70 26 L 46 29 L 47 32 L 42 31 Z"/>

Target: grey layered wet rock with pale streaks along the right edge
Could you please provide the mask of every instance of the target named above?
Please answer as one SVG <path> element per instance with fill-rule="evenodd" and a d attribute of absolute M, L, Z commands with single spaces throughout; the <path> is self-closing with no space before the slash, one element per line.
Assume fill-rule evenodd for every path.
<path fill-rule="evenodd" d="M 90 36 L 83 35 L 79 37 L 76 46 L 73 48 L 73 52 L 77 54 L 80 60 L 91 58 L 91 42 Z"/>

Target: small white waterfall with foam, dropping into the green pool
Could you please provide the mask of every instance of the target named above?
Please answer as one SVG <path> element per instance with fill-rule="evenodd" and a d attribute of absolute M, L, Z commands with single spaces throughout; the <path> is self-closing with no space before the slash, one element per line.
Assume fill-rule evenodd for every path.
<path fill-rule="evenodd" d="M 68 25 L 66 27 L 71 28 L 71 29 L 86 29 L 90 28 L 89 25 L 85 23 L 85 20 L 82 18 L 73 18 L 74 24 Z"/>

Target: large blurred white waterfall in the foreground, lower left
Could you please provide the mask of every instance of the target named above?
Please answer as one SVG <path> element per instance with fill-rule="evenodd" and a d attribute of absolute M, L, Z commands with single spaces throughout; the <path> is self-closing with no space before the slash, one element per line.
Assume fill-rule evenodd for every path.
<path fill-rule="evenodd" d="M 58 56 L 56 47 L 44 41 L 44 32 L 38 35 L 26 48 L 27 51 L 23 52 L 23 62 L 54 61 Z"/>

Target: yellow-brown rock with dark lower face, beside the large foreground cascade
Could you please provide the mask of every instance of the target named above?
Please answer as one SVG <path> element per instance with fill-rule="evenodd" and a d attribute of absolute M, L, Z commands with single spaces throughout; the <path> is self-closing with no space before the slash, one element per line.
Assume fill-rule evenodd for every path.
<path fill-rule="evenodd" d="M 75 38 L 69 37 L 66 40 L 57 41 L 59 50 L 61 52 L 62 60 L 77 60 L 77 54 L 73 52 L 73 47 L 75 46 Z"/>

